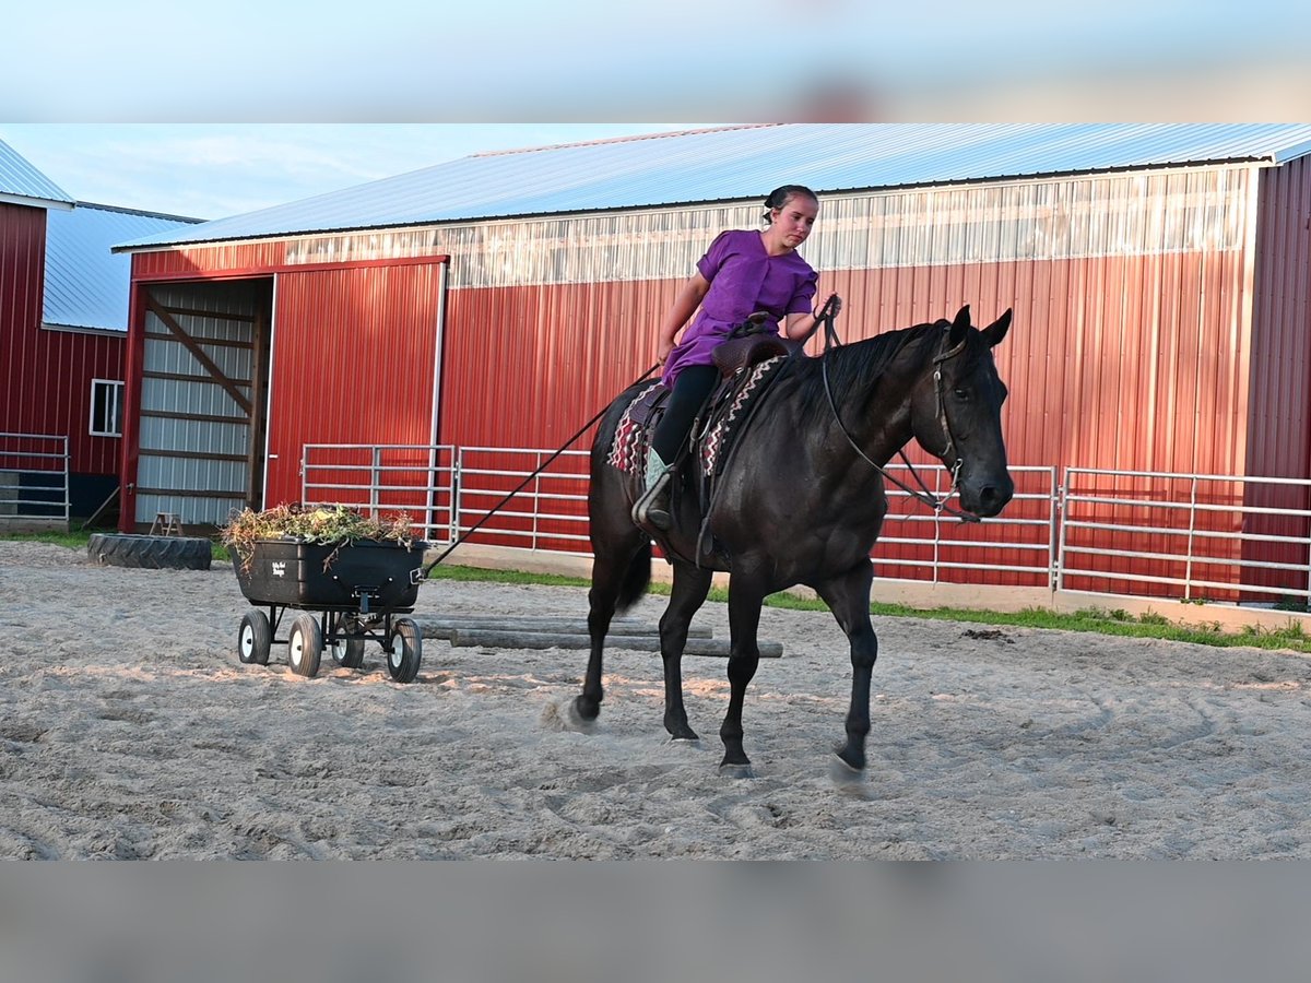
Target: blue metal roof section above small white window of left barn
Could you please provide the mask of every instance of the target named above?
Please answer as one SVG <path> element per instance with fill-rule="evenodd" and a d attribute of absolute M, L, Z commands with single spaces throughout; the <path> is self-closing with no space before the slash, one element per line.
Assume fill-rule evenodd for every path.
<path fill-rule="evenodd" d="M 197 219 L 77 202 L 46 219 L 42 322 L 60 328 L 127 330 L 132 257 L 109 248 L 125 239 L 194 225 Z"/>

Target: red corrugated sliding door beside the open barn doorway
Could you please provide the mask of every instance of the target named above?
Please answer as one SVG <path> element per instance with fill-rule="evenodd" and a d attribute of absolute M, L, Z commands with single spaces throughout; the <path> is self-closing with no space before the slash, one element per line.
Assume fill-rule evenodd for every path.
<path fill-rule="evenodd" d="M 431 442 L 440 299 L 437 262 L 278 275 L 267 506 L 300 501 L 307 443 Z M 465 371 L 499 388 L 501 359 Z"/>

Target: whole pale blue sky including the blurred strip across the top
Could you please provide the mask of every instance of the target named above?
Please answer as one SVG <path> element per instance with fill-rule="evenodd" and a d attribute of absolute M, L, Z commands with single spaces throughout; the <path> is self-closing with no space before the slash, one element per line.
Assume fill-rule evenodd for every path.
<path fill-rule="evenodd" d="M 75 198 L 222 218 L 692 126 L 612 121 L 1303 122 L 1308 35 L 1286 0 L 66 0 L 5 21 L 0 139 Z"/>

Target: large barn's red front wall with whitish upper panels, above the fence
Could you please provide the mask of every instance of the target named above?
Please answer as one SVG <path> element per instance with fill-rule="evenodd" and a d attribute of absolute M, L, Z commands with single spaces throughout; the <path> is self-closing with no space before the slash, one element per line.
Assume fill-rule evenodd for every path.
<path fill-rule="evenodd" d="M 996 353 L 1011 388 L 1012 463 L 1243 473 L 1257 173 L 1176 168 L 825 195 L 802 252 L 821 271 L 821 298 L 844 298 L 847 341 L 950 317 L 962 304 L 981 325 L 1013 309 Z M 713 236 L 758 222 L 754 204 L 720 204 L 303 236 L 138 261 L 159 277 L 278 269 L 287 279 L 323 262 L 448 254 L 439 440 L 555 448 L 650 367 L 658 318 Z M 298 315 L 307 330 L 316 309 L 307 294 Z M 304 359 L 321 364 L 312 343 Z M 277 391 L 304 391 L 305 371 L 279 376 Z M 378 429 L 359 439 L 378 440 Z M 279 430 L 288 440 L 312 431 L 308 415 Z"/>

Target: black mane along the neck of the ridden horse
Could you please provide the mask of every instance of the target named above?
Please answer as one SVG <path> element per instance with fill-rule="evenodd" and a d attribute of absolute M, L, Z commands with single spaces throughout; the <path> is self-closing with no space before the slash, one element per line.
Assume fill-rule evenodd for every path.
<path fill-rule="evenodd" d="M 822 358 L 829 370 L 829 384 L 832 397 L 852 413 L 864 412 L 869 400 L 878 392 L 878 381 L 888 367 L 907 350 L 912 350 L 914 368 L 919 368 L 933 353 L 932 343 L 950 326 L 950 321 L 916 324 L 912 328 L 899 328 L 876 334 L 873 338 L 855 341 L 830 349 Z M 825 393 L 823 364 L 819 358 L 805 359 L 800 371 L 797 401 L 801 413 L 812 412 L 827 415 L 829 396 Z"/>

